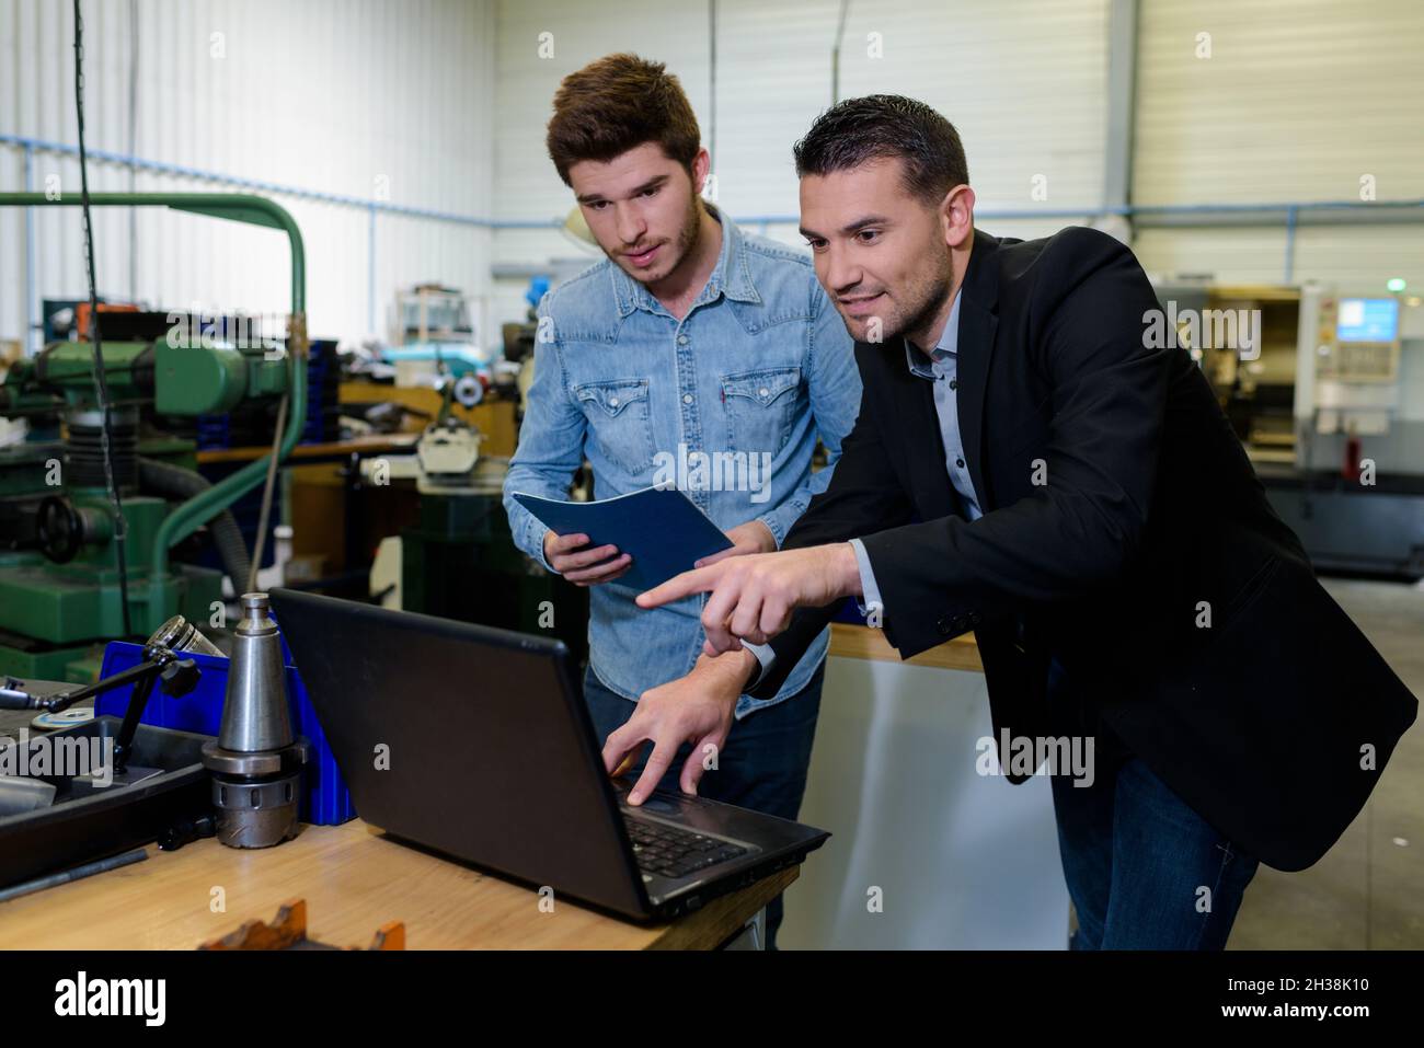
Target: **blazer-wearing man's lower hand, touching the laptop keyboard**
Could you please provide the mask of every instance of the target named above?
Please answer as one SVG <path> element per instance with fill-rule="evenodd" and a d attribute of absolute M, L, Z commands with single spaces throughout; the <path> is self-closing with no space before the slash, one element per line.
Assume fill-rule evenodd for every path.
<path fill-rule="evenodd" d="M 736 701 L 756 666 L 756 656 L 749 651 L 719 658 L 702 655 L 686 676 L 642 693 L 628 723 L 604 742 L 604 767 L 614 776 L 632 765 L 645 742 L 652 743 L 642 776 L 628 793 L 629 805 L 641 805 L 658 789 L 685 742 L 692 745 L 692 753 L 682 763 L 678 785 L 684 793 L 698 792 L 706 758 L 721 752 L 726 742 Z"/>

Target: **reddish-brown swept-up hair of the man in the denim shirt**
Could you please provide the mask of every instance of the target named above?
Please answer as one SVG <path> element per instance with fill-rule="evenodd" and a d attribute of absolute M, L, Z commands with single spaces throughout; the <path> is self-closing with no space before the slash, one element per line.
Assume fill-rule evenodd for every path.
<path fill-rule="evenodd" d="M 609 54 L 564 77 L 545 141 L 558 177 L 572 185 L 574 164 L 607 162 L 644 142 L 658 142 L 691 174 L 702 131 L 682 84 L 661 61 Z"/>

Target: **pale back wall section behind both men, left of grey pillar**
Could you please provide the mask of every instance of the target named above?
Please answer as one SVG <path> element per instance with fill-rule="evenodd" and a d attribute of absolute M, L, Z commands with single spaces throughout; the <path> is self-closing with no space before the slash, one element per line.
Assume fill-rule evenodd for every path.
<path fill-rule="evenodd" d="M 797 211 L 792 142 L 830 104 L 837 0 L 716 3 L 718 201 L 733 218 Z M 981 211 L 1102 202 L 1106 138 L 1106 0 L 857 0 L 850 4 L 840 95 L 923 98 L 958 128 Z M 541 34 L 553 57 L 541 57 Z M 708 3 L 500 0 L 496 199 L 503 218 L 562 216 L 572 195 L 544 152 L 558 81 L 619 50 L 676 73 L 711 145 Z M 545 38 L 544 53 L 548 53 Z M 1047 197 L 1035 199 L 1035 177 Z M 990 221 L 1035 236 L 1072 219 Z M 759 229 L 753 224 L 753 229 Z M 799 243 L 795 221 L 768 232 Z M 500 231 L 496 259 L 538 265 L 577 255 L 554 232 Z M 517 282 L 498 300 L 518 308 Z"/>

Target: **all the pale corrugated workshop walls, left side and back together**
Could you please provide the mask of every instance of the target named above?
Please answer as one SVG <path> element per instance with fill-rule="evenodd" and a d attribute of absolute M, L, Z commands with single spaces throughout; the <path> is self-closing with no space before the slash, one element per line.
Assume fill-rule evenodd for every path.
<path fill-rule="evenodd" d="M 544 155 L 544 125 L 558 80 L 591 58 L 631 47 L 666 61 L 711 140 L 708 9 L 705 0 L 85 0 L 90 142 L 130 148 L 137 13 L 134 151 L 144 158 L 362 199 L 387 192 L 393 204 L 461 215 L 551 219 L 571 199 Z M 790 144 L 830 100 L 839 10 L 837 0 L 716 3 L 713 169 L 733 216 L 795 215 Z M 0 0 L 0 132 L 74 142 L 68 11 L 66 0 Z M 1092 208 L 1104 192 L 1106 23 L 1108 0 L 853 0 L 840 93 L 899 91 L 946 112 L 964 138 L 981 214 Z M 553 57 L 540 57 L 543 33 Z M 1200 33 L 1210 33 L 1210 58 L 1196 57 Z M 1424 197 L 1417 0 L 1143 0 L 1139 37 L 1135 202 L 1351 199 L 1367 174 L 1381 199 Z M 120 165 L 94 162 L 91 172 L 97 189 L 130 185 Z M 77 182 L 71 158 L 36 152 L 33 187 L 43 189 L 47 175 L 66 189 Z M 1032 194 L 1038 175 L 1045 199 Z M 142 172 L 135 182 L 221 188 Z M 0 187 L 23 185 L 23 152 L 0 145 Z M 283 202 L 306 235 L 318 335 L 384 332 L 394 289 L 427 279 L 493 289 L 487 319 L 513 319 L 523 281 L 491 282 L 491 261 L 541 266 L 578 255 L 548 231 L 383 215 L 370 296 L 367 215 Z M 984 225 L 1031 236 L 1068 221 Z M 36 299 L 81 295 L 74 214 L 40 211 L 36 226 Z M 799 239 L 792 225 L 768 231 Z M 1293 275 L 1424 285 L 1418 231 L 1302 225 Z M 97 243 L 105 295 L 286 308 L 278 234 L 141 212 L 132 279 L 127 216 L 101 212 Z M 1282 225 L 1142 229 L 1135 246 L 1163 273 L 1284 275 Z M 0 211 L 0 337 L 24 328 L 24 271 L 23 215 Z"/>

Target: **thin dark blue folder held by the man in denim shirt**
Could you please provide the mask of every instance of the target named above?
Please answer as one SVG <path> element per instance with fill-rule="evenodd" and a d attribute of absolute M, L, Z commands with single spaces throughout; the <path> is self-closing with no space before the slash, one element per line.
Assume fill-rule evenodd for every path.
<path fill-rule="evenodd" d="M 691 571 L 695 561 L 731 540 L 678 488 L 646 487 L 597 503 L 570 503 L 515 491 L 514 498 L 557 535 L 584 534 L 592 545 L 617 545 L 632 565 L 617 581 L 651 590 Z"/>

